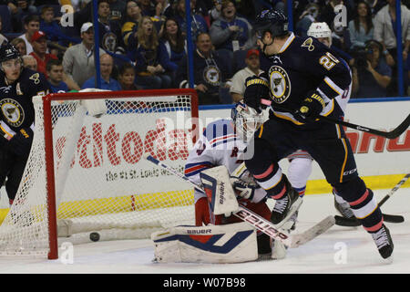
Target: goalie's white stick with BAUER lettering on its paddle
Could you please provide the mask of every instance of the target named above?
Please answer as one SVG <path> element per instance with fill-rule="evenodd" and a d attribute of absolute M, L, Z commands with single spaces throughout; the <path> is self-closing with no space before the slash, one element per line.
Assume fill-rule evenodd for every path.
<path fill-rule="evenodd" d="M 159 162 L 159 160 L 149 155 L 149 153 L 145 153 L 143 157 L 147 161 L 156 164 L 157 166 L 165 169 L 167 172 L 178 176 L 180 179 L 192 184 L 194 188 L 200 190 L 200 192 L 204 192 L 201 185 L 190 182 L 190 180 L 185 175 L 177 172 L 168 165 Z M 276 225 L 272 224 L 272 222 L 262 218 L 259 214 L 255 214 L 241 204 L 239 204 L 239 211 L 234 213 L 234 215 L 251 224 L 262 233 L 269 235 L 273 239 L 281 241 L 283 245 L 291 248 L 298 247 L 313 240 L 313 238 L 317 237 L 318 235 L 322 235 L 335 224 L 334 217 L 332 215 L 329 215 L 325 217 L 321 222 L 314 224 L 311 228 L 302 232 L 301 234 L 287 235 L 286 232 L 283 233 Z"/>

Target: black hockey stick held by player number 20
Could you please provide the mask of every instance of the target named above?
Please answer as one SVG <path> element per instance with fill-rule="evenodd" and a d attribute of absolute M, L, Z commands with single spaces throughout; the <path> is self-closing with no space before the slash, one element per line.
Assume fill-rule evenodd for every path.
<path fill-rule="evenodd" d="M 261 104 L 264 104 L 266 106 L 271 106 L 272 101 L 268 99 L 261 99 Z M 276 104 L 274 105 L 274 107 L 278 110 L 292 112 L 292 110 L 282 108 L 281 106 L 278 106 Z M 337 120 L 337 119 L 333 119 L 330 117 L 324 117 L 322 115 L 318 115 L 316 118 L 327 121 L 327 122 L 331 122 L 334 124 L 342 125 L 347 128 L 352 128 L 355 130 L 362 130 L 362 131 L 365 131 L 365 132 L 368 132 L 368 133 L 371 133 L 377 136 L 381 136 L 387 139 L 395 139 L 399 137 L 405 130 L 407 130 L 408 126 L 410 125 L 410 114 L 407 116 L 407 118 L 405 118 L 405 120 L 402 121 L 400 125 L 398 125 L 394 130 L 391 130 L 391 131 L 375 130 L 375 129 L 367 128 L 361 125 L 356 125 L 356 124 L 353 124 L 353 123 L 350 123 L 344 120 Z"/>

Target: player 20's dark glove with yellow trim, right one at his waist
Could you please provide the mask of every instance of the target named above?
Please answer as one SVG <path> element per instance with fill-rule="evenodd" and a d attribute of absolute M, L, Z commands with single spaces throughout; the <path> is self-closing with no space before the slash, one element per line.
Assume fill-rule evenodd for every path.
<path fill-rule="evenodd" d="M 300 122 L 314 121 L 324 109 L 324 100 L 313 91 L 308 94 L 307 98 L 301 103 L 301 107 L 293 113 L 293 117 Z"/>

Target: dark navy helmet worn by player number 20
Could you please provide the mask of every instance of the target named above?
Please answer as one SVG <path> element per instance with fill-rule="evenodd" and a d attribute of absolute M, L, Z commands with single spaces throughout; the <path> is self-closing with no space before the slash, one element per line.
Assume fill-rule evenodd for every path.
<path fill-rule="evenodd" d="M 273 37 L 284 36 L 288 33 L 288 18 L 282 12 L 271 9 L 263 10 L 256 16 L 253 32 L 261 37 L 269 31 Z"/>

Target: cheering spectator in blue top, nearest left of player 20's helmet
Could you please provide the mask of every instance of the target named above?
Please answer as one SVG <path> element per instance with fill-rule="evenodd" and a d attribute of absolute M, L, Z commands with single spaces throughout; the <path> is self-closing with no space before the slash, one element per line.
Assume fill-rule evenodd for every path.
<path fill-rule="evenodd" d="M 226 49 L 233 54 L 236 50 L 248 50 L 254 46 L 251 30 L 248 20 L 236 15 L 233 1 L 224 0 L 220 18 L 210 26 L 210 38 L 216 49 Z"/>

